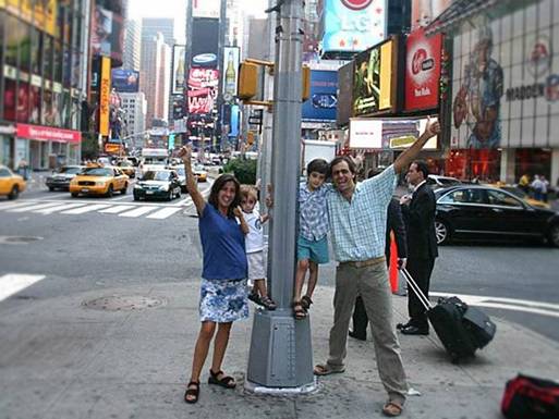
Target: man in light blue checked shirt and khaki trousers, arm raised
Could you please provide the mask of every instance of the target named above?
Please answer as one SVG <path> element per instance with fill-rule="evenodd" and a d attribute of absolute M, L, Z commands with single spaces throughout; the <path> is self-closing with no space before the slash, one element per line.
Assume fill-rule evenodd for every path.
<path fill-rule="evenodd" d="M 370 321 L 377 368 L 388 400 L 386 416 L 400 416 L 408 383 L 400 355 L 400 344 L 392 329 L 392 303 L 385 262 L 387 207 L 392 198 L 398 174 L 408 169 L 427 140 L 440 132 L 438 122 L 428 121 L 425 132 L 382 173 L 355 184 L 356 169 L 347 156 L 330 162 L 335 189 L 327 195 L 328 215 L 336 270 L 333 325 L 329 356 L 315 366 L 314 373 L 327 375 L 345 371 L 348 330 L 355 298 L 361 295 Z"/>

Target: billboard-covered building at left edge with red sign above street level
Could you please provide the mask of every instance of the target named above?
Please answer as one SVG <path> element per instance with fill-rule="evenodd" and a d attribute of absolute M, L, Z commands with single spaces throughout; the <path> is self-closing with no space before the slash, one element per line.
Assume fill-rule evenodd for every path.
<path fill-rule="evenodd" d="M 81 159 L 89 0 L 0 2 L 0 163 Z"/>

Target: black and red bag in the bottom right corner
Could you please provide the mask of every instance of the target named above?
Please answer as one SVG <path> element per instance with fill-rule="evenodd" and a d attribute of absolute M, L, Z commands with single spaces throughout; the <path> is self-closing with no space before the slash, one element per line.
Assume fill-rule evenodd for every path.
<path fill-rule="evenodd" d="M 507 419 L 557 419 L 559 383 L 519 374 L 507 382 L 501 411 Z"/>

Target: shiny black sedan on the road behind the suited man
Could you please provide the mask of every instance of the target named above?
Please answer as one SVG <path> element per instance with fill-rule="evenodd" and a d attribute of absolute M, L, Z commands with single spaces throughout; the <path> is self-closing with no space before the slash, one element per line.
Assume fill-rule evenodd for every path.
<path fill-rule="evenodd" d="M 438 244 L 452 238 L 538 238 L 559 247 L 559 213 L 507 190 L 460 185 L 437 189 L 435 196 Z"/>

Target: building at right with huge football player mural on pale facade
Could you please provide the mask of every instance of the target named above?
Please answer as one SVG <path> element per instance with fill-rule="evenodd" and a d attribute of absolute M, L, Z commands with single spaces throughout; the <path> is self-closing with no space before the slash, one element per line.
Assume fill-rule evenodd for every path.
<path fill-rule="evenodd" d="M 427 26 L 452 47 L 446 174 L 517 183 L 559 178 L 559 7 L 554 0 L 467 2 Z M 465 21 L 465 16 L 469 16 Z"/>

